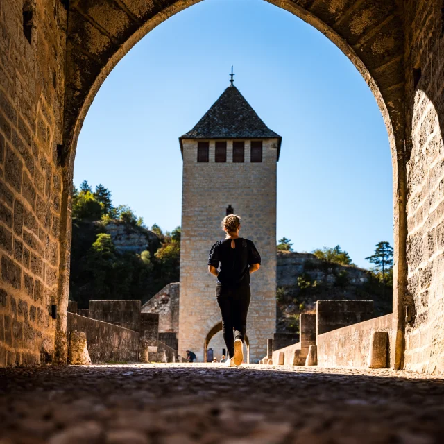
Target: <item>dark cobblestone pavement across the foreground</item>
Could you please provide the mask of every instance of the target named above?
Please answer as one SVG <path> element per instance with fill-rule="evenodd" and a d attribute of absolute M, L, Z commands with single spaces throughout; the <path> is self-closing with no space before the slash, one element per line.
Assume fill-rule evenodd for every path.
<path fill-rule="evenodd" d="M 0 369 L 0 444 L 444 443 L 444 379 L 221 364 Z"/>

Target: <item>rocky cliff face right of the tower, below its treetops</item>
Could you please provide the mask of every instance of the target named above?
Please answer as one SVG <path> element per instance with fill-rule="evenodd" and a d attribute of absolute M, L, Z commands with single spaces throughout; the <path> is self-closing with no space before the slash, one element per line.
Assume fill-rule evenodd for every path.
<path fill-rule="evenodd" d="M 313 311 L 316 300 L 374 300 L 375 316 L 392 311 L 392 289 L 370 271 L 318 259 L 311 253 L 278 252 L 277 332 L 296 332 L 299 315 Z"/>

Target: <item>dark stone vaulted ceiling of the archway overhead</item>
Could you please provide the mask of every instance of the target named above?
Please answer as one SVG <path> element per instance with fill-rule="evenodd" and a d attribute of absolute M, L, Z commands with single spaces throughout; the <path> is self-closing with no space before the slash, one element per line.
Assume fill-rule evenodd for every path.
<path fill-rule="evenodd" d="M 269 0 L 325 33 L 355 62 L 388 110 L 395 140 L 404 132 L 404 34 L 396 0 Z M 108 72 L 151 28 L 197 0 L 71 0 L 67 29 L 64 146 Z M 345 44 L 344 44 L 345 43 Z M 345 49 L 345 47 L 347 49 Z M 370 76 L 368 76 L 370 74 Z M 327 75 L 327 74 L 326 74 Z M 370 78 L 369 78 L 370 77 Z M 373 78 L 373 80 L 372 80 Z M 379 90 L 379 91 L 378 91 Z M 383 112 L 384 114 L 384 112 Z M 71 159 L 71 165 L 74 159 Z"/>

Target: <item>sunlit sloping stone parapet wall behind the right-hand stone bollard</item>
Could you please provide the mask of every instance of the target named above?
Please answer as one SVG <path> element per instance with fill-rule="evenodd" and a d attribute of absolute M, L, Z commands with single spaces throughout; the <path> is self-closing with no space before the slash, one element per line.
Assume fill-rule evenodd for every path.
<path fill-rule="evenodd" d="M 367 368 L 373 332 L 386 332 L 389 339 L 393 338 L 393 315 L 387 314 L 319 334 L 316 343 L 318 366 Z M 387 350 L 387 364 L 389 356 L 390 349 Z"/>

